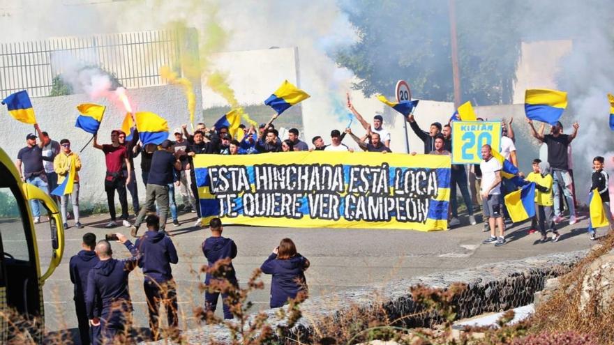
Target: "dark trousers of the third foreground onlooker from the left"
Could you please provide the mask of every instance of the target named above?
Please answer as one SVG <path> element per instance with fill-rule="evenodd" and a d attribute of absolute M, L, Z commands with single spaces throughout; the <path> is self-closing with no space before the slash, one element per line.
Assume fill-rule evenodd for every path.
<path fill-rule="evenodd" d="M 149 329 L 151 329 L 153 339 L 158 339 L 160 336 L 158 328 L 160 302 L 166 309 L 169 328 L 177 328 L 179 326 L 179 319 L 177 317 L 177 284 L 175 284 L 173 279 L 167 282 L 152 282 L 149 279 L 145 279 L 143 287 L 149 309 Z"/>

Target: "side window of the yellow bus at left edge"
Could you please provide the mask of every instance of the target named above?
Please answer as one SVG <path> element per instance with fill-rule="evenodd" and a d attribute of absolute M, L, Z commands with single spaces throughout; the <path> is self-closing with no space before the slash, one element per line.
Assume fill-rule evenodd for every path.
<path fill-rule="evenodd" d="M 17 186 L 0 187 L 0 238 L 5 258 L 30 261 L 24 228 L 24 221 L 27 222 L 29 216 L 17 204 L 16 193 L 20 193 Z"/>

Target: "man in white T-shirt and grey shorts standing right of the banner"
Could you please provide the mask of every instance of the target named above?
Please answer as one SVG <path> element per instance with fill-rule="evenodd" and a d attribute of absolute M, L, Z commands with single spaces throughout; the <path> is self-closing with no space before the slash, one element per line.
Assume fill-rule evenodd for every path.
<path fill-rule="evenodd" d="M 486 238 L 482 243 L 495 243 L 495 246 L 500 247 L 505 244 L 501 196 L 502 167 L 500 162 L 493 158 L 493 150 L 490 145 L 482 146 L 481 155 L 483 160 L 480 162 L 482 171 L 480 194 L 484 215 L 488 217 L 488 225 L 491 227 L 491 237 Z M 495 224 L 499 227 L 498 238 L 495 236 Z"/>

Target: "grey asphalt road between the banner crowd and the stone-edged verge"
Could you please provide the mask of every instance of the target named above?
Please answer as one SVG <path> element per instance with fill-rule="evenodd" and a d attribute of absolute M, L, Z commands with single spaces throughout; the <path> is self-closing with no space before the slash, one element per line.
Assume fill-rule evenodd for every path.
<path fill-rule="evenodd" d="M 376 229 L 228 226 L 224 228 L 223 236 L 232 238 L 239 248 L 239 255 L 234 259 L 239 284 L 246 282 L 253 270 L 260 267 L 281 238 L 292 238 L 299 252 L 311 261 L 306 277 L 310 294 L 316 296 L 391 279 L 471 268 L 484 263 L 521 259 L 537 254 L 585 249 L 594 243 L 588 239 L 586 233 L 586 217 L 580 219 L 581 222 L 573 226 L 569 226 L 567 222 L 559 224 L 562 237 L 557 243 L 539 244 L 539 233 L 527 234 L 529 223 L 518 224 L 509 228 L 506 235 L 509 242 L 502 247 L 481 244 L 487 234 L 481 231 L 481 224 L 468 225 L 466 217 L 461 218 L 463 224 L 467 224 L 463 227 L 430 233 Z M 180 227 L 167 224 L 167 231 L 171 233 L 179 252 L 179 263 L 172 268 L 179 289 L 180 323 L 182 327 L 187 325 L 191 328 L 195 324 L 191 319 L 192 309 L 204 302 L 198 291 L 198 284 L 204 281 L 204 276 L 199 276 L 198 271 L 207 262 L 200 245 L 204 238 L 209 236 L 209 230 L 193 227 L 193 213 L 180 215 L 179 220 L 182 223 Z M 91 231 L 98 238 L 103 238 L 105 233 L 112 232 L 104 229 L 106 222 L 107 217 L 104 215 L 91 216 L 82 219 L 82 223 L 86 225 L 85 229 L 71 227 L 66 231 L 66 251 L 62 263 L 44 287 L 47 330 L 74 330 L 77 327 L 68 261 L 70 256 L 80 250 L 83 233 Z M 72 222 L 70 224 L 72 225 Z M 129 233 L 125 227 L 118 227 L 114 231 Z M 144 228 L 141 231 L 144 231 Z M 37 233 L 41 270 L 44 272 L 49 264 L 47 254 L 50 253 L 48 224 L 38 224 Z M 114 243 L 112 246 L 115 257 L 129 255 L 123 245 Z M 255 309 L 267 309 L 269 305 L 270 278 L 263 276 L 264 290 L 251 296 Z M 135 325 L 146 328 L 147 305 L 142 282 L 142 273 L 137 269 L 130 279 Z M 219 302 L 220 316 L 221 309 Z"/>

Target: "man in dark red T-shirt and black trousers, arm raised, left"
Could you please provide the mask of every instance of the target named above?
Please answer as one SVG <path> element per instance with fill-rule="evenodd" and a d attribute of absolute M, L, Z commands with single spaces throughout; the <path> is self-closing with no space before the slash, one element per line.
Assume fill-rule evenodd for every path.
<path fill-rule="evenodd" d="M 106 228 L 117 227 L 115 222 L 115 191 L 119 196 L 119 204 L 121 205 L 121 220 L 124 227 L 130 227 L 128 223 L 128 199 L 126 198 L 126 185 L 130 183 L 130 175 L 125 176 L 121 171 L 121 166 L 125 162 L 126 170 L 130 170 L 130 161 L 126 146 L 119 144 L 119 135 L 121 130 L 111 131 L 111 144 L 98 144 L 98 135 L 93 136 L 93 148 L 105 153 L 105 164 L 107 171 L 105 174 L 105 192 L 107 193 L 107 204 L 111 221 L 107 223 Z"/>

